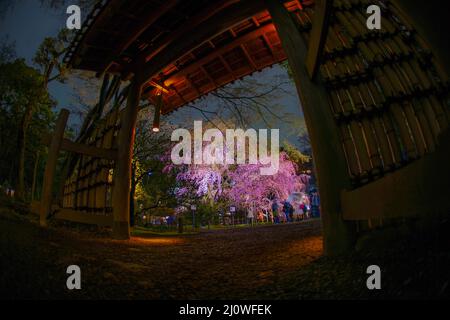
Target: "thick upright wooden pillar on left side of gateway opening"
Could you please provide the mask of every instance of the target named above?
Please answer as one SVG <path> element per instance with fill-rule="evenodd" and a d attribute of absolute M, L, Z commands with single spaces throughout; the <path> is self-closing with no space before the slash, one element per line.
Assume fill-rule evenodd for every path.
<path fill-rule="evenodd" d="M 130 84 L 127 106 L 122 114 L 118 138 L 118 153 L 113 176 L 113 237 L 130 238 L 131 160 L 133 157 L 136 120 L 141 98 L 142 81 L 135 76 Z"/>

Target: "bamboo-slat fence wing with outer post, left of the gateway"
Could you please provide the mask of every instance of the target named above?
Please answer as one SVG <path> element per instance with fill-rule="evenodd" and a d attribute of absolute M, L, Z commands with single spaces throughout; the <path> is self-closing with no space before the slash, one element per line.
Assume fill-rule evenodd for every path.
<path fill-rule="evenodd" d="M 47 137 L 49 159 L 46 163 L 43 196 L 39 203 L 41 225 L 49 216 L 87 224 L 112 226 L 112 185 L 114 162 L 117 160 L 117 135 L 121 112 L 115 110 L 96 123 L 96 128 L 84 143 L 64 138 L 69 111 L 59 114 L 55 132 Z M 73 170 L 61 189 L 60 203 L 53 201 L 56 161 L 61 151 L 77 154 Z"/>

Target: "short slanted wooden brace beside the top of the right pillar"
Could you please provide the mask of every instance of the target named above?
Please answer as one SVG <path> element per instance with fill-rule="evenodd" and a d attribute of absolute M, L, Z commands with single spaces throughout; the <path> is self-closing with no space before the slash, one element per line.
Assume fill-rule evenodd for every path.
<path fill-rule="evenodd" d="M 313 26 L 306 56 L 306 69 L 311 79 L 317 74 L 327 41 L 333 0 L 315 0 Z"/>

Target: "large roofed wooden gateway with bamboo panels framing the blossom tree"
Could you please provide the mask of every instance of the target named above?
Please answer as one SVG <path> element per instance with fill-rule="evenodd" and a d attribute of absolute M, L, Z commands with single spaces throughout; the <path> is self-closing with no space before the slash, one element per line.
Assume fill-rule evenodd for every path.
<path fill-rule="evenodd" d="M 366 27 L 371 4 L 382 8 L 379 31 Z M 310 134 L 328 254 L 351 248 L 364 224 L 450 213 L 448 51 L 429 28 L 444 22 L 428 16 L 416 24 L 421 4 L 102 1 L 66 62 L 121 75 L 131 89 L 122 115 L 105 119 L 90 142 L 97 152 L 114 151 L 81 158 L 63 208 L 102 217 L 116 238 L 128 239 L 139 102 L 162 92 L 168 114 L 287 59 Z"/>

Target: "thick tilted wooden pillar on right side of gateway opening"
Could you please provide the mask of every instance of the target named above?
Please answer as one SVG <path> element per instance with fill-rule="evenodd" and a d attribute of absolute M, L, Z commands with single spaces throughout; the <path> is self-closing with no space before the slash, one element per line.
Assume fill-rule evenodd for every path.
<path fill-rule="evenodd" d="M 308 127 L 320 190 L 325 253 L 341 254 L 353 248 L 356 229 L 353 223 L 342 218 L 340 193 L 349 188 L 350 179 L 338 128 L 324 86 L 317 77 L 312 81 L 309 77 L 306 67 L 308 48 L 295 21 L 279 0 L 265 0 L 265 3 L 292 68 Z M 324 7 L 323 4 L 316 6 L 316 9 Z"/>

